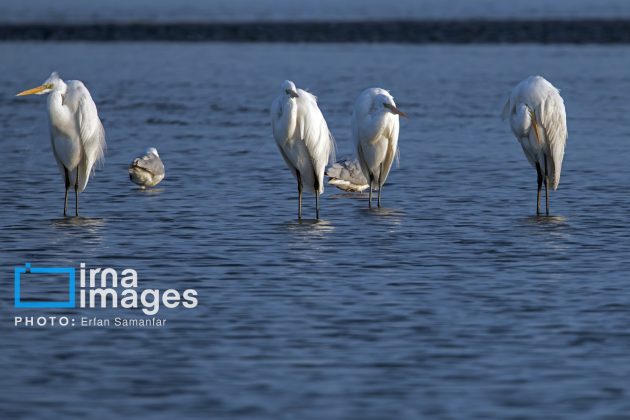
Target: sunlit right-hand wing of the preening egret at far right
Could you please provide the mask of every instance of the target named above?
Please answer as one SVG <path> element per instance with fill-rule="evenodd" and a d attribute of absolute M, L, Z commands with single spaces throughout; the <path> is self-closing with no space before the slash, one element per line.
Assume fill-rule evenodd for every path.
<path fill-rule="evenodd" d="M 547 173 L 550 175 L 551 187 L 555 190 L 560 183 L 560 172 L 564 158 L 564 147 L 567 143 L 567 117 L 564 101 L 554 88 L 547 97 L 540 102 L 536 110 L 536 120 L 545 131 L 546 147 L 549 148 L 551 162 Z"/>

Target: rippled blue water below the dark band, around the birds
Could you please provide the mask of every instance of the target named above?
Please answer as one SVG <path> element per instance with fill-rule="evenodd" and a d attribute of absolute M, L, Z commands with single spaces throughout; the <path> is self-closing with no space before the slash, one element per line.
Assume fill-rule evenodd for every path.
<path fill-rule="evenodd" d="M 0 44 L 2 418 L 614 418 L 630 411 L 628 47 Z M 105 165 L 62 217 L 45 98 L 83 80 Z M 540 73 L 569 143 L 552 217 L 499 119 Z M 268 108 L 310 88 L 352 153 L 366 87 L 391 90 L 400 168 L 384 208 L 328 187 L 295 218 Z M 158 188 L 126 166 L 155 146 Z M 132 267 L 141 288 L 199 292 L 162 328 L 16 328 L 13 267 Z"/>

